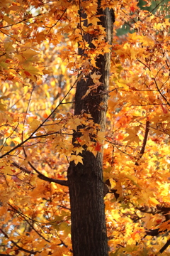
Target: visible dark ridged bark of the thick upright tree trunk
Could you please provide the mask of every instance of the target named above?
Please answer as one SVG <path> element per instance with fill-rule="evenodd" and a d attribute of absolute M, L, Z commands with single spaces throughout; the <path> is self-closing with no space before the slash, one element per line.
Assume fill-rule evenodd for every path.
<path fill-rule="evenodd" d="M 106 28 L 106 41 L 111 44 L 114 13 L 112 9 L 100 9 L 100 4 L 101 1 L 98 1 L 98 14 L 101 14 L 101 25 Z M 84 16 L 86 14 L 81 10 L 80 15 Z M 84 34 L 84 40 L 89 43 L 91 48 L 94 48 L 91 43 L 92 39 L 91 35 Z M 86 53 L 81 48 L 79 48 L 79 54 L 82 58 L 86 56 Z M 110 63 L 111 53 L 98 55 L 98 69 L 91 70 L 91 73 L 86 75 L 86 80 L 81 78 L 77 84 L 75 96 L 74 114 L 81 114 L 82 111 L 91 114 L 94 122 L 101 125 L 101 131 L 105 130 L 106 123 L 108 95 L 105 92 L 108 90 Z M 90 75 L 94 71 L 101 75 L 102 85 L 98 87 L 96 92 L 81 100 L 86 94 L 89 85 L 92 84 Z M 101 102 L 103 102 L 102 107 L 100 107 Z M 72 161 L 67 174 L 71 203 L 73 255 L 107 256 L 108 241 L 103 202 L 103 154 L 98 153 L 95 157 L 90 151 L 84 149 L 81 156 L 84 164 L 79 163 L 75 166 Z"/>

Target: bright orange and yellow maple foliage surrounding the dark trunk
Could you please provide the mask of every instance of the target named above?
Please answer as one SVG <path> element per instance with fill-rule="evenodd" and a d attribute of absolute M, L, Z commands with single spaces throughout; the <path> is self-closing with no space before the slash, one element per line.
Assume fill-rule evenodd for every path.
<path fill-rule="evenodd" d="M 0 255 L 72 255 L 67 169 L 85 148 L 103 151 L 109 255 L 169 255 L 169 6 L 139 2 L 101 1 L 115 11 L 111 49 L 96 0 L 0 0 Z M 74 115 L 74 95 L 110 50 L 101 132 L 91 114 Z"/>

